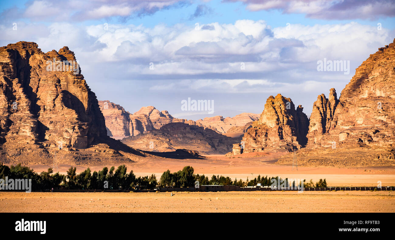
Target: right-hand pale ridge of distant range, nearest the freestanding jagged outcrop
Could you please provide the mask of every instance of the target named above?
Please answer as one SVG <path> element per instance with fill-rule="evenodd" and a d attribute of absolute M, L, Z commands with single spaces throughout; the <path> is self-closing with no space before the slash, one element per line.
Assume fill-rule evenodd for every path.
<path fill-rule="evenodd" d="M 247 123 L 258 120 L 259 116 L 260 114 L 243 112 L 232 118 L 213 116 L 209 118 L 204 118 L 203 120 L 200 119 L 196 122 L 202 124 L 205 127 L 211 128 L 217 131 L 218 133 L 239 133 L 238 131 L 243 131 L 243 130 L 237 127 L 245 127 Z"/>

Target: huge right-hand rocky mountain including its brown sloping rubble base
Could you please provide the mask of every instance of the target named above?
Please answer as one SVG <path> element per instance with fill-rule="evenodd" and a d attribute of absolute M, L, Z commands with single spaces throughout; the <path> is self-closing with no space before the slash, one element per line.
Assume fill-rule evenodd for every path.
<path fill-rule="evenodd" d="M 395 39 L 355 70 L 339 99 L 333 88 L 318 96 L 307 137 L 299 165 L 395 165 Z"/>

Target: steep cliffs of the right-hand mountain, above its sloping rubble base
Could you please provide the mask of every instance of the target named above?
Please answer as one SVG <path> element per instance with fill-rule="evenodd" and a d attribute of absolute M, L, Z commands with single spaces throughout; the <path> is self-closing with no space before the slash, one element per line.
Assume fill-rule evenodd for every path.
<path fill-rule="evenodd" d="M 359 66 L 339 100 L 332 88 L 314 103 L 308 146 L 367 146 L 395 150 L 395 43 Z"/>

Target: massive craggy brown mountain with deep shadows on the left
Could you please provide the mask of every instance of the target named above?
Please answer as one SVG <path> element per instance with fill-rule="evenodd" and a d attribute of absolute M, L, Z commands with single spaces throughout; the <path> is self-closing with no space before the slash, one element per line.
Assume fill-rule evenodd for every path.
<path fill-rule="evenodd" d="M 74 53 L 33 42 L 0 48 L 0 161 L 131 161 L 142 152 L 107 137 L 105 120 Z"/>

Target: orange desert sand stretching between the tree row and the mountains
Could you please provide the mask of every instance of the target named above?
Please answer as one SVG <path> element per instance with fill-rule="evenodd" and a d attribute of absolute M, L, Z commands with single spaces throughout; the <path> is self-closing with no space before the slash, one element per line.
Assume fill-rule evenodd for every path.
<path fill-rule="evenodd" d="M 224 155 L 207 155 L 207 159 L 169 159 L 145 157 L 134 163 L 125 164 L 128 171 L 133 170 L 136 176 L 147 176 L 156 174 L 159 180 L 164 171 L 169 169 L 172 172 L 181 170 L 185 166 L 194 167 L 195 174 L 205 174 L 206 176 L 223 175 L 229 176 L 233 180 L 241 178 L 243 180 L 261 176 L 281 176 L 292 179 L 310 179 L 317 182 L 320 178 L 326 179 L 328 186 L 378 186 L 381 181 L 382 186 L 395 186 L 394 167 L 296 167 L 292 170 L 292 165 L 274 165 L 281 152 L 253 152 L 239 156 L 227 157 Z M 8 164 L 9 165 L 9 164 Z M 117 167 L 120 164 L 114 164 Z M 34 171 L 47 171 L 51 165 L 28 165 Z M 54 171 L 66 174 L 71 165 L 58 165 Z M 84 171 L 90 167 L 92 171 L 99 171 L 108 165 L 75 165 L 77 172 Z"/>

